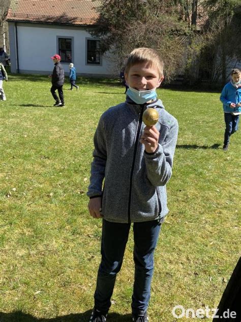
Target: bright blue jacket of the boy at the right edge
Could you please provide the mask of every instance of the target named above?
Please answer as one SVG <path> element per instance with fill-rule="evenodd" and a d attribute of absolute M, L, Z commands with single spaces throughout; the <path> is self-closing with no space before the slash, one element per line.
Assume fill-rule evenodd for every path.
<path fill-rule="evenodd" d="M 241 112 L 241 106 L 236 106 L 234 109 L 229 107 L 230 103 L 237 104 L 241 102 L 241 85 L 236 88 L 231 82 L 226 84 L 220 95 L 220 100 L 223 103 L 224 113 Z"/>

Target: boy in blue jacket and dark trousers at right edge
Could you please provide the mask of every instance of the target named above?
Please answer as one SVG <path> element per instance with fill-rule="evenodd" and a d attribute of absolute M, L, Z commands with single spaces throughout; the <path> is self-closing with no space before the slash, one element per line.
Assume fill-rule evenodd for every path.
<path fill-rule="evenodd" d="M 223 150 L 227 151 L 230 136 L 238 129 L 239 114 L 241 113 L 241 71 L 234 68 L 231 71 L 231 80 L 222 90 L 220 100 L 223 103 L 224 133 Z"/>

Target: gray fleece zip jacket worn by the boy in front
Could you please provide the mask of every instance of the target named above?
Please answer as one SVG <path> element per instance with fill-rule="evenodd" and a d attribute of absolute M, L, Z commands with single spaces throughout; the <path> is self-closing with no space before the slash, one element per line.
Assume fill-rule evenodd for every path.
<path fill-rule="evenodd" d="M 139 142 L 146 108 L 156 108 L 160 132 L 155 153 Z M 163 221 L 168 213 L 166 183 L 172 173 L 178 123 L 161 100 L 138 105 L 127 101 L 109 108 L 100 118 L 87 196 L 102 196 L 102 215 L 110 222 Z M 104 184 L 103 184 L 104 182 Z"/>

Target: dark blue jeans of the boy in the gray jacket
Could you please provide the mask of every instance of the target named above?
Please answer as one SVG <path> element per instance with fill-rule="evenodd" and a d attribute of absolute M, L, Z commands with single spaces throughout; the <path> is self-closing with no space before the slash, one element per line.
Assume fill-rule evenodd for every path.
<path fill-rule="evenodd" d="M 101 264 L 95 291 L 95 307 L 107 312 L 111 305 L 116 274 L 123 263 L 131 224 L 111 223 L 103 220 Z M 154 251 L 160 232 L 158 220 L 133 224 L 135 278 L 132 312 L 144 313 L 150 299 L 150 284 L 154 271 Z"/>

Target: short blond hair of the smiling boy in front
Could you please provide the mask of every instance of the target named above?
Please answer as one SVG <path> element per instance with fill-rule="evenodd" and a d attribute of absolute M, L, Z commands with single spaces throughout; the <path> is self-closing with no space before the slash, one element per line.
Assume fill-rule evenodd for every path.
<path fill-rule="evenodd" d="M 163 76 L 163 61 L 161 60 L 158 52 L 152 48 L 136 48 L 129 54 L 125 73 L 129 72 L 129 69 L 136 64 L 149 63 L 151 66 L 157 67 L 159 75 Z"/>

